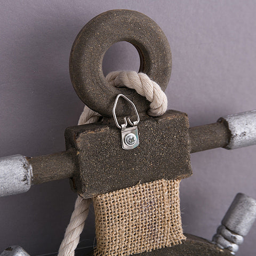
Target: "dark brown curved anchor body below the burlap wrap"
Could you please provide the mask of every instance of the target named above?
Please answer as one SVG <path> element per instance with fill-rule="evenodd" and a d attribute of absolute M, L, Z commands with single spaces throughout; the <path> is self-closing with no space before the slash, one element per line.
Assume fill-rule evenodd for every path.
<path fill-rule="evenodd" d="M 231 256 L 230 251 L 220 249 L 217 245 L 210 243 L 201 237 L 185 234 L 187 239 L 182 244 L 165 247 L 152 252 L 133 254 L 134 256 Z M 93 251 L 87 256 L 93 256 Z"/>

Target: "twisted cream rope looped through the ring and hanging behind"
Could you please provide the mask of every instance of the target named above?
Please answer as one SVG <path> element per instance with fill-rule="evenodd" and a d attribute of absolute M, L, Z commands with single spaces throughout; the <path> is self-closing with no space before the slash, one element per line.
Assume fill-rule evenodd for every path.
<path fill-rule="evenodd" d="M 150 116 L 161 116 L 167 109 L 167 97 L 161 87 L 151 81 L 143 73 L 135 71 L 114 71 L 106 76 L 110 85 L 115 87 L 128 87 L 136 90 L 140 95 L 145 96 L 150 101 Z M 85 106 L 81 114 L 78 125 L 97 122 L 100 114 Z M 79 243 L 80 234 L 84 228 L 84 222 L 89 213 L 91 199 L 83 199 L 78 196 L 75 203 L 75 209 L 71 215 L 70 222 L 61 242 L 58 256 L 74 256 L 75 249 Z"/>

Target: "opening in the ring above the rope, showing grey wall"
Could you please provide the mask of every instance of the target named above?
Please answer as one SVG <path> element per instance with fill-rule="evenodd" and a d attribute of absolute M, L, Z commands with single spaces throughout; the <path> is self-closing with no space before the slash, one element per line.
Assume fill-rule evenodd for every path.
<path fill-rule="evenodd" d="M 103 74 L 116 70 L 139 71 L 140 57 L 137 49 L 128 42 L 118 42 L 109 47 L 102 61 Z"/>

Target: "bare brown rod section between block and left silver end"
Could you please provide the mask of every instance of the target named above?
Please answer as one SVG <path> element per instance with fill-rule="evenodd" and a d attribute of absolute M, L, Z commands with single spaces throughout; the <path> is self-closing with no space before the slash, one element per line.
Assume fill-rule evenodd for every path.
<path fill-rule="evenodd" d="M 73 150 L 27 157 L 27 161 L 33 167 L 32 184 L 70 178 L 76 172 L 75 152 Z"/>

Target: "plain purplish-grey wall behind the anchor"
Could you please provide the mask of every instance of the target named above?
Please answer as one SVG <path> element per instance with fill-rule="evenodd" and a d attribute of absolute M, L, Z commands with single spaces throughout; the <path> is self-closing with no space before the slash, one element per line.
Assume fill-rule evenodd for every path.
<path fill-rule="evenodd" d="M 83 109 L 69 79 L 68 59 L 79 30 L 111 9 L 145 13 L 171 45 L 169 108 L 188 113 L 190 126 L 256 108 L 255 1 L 1 1 L 0 157 L 65 149 L 63 132 Z M 138 70 L 128 43 L 110 48 L 105 73 Z M 256 147 L 191 155 L 193 177 L 181 182 L 183 228 L 211 239 L 238 192 L 256 198 Z M 76 195 L 68 180 L 0 198 L 0 251 L 13 244 L 31 255 L 57 252 Z M 254 224 L 237 255 L 255 255 Z M 80 247 L 93 246 L 93 210 Z"/>

